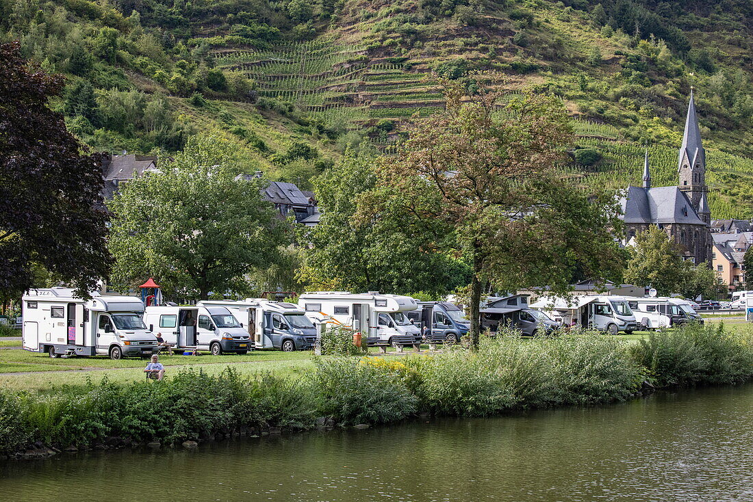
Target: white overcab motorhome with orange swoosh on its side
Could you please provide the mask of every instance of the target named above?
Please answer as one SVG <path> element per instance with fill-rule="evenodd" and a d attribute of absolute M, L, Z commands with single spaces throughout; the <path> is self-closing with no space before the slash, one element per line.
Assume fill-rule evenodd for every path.
<path fill-rule="evenodd" d="M 421 330 L 407 316 L 407 312 L 418 309 L 418 303 L 411 297 L 377 292 L 319 291 L 300 295 L 298 306 L 319 323 L 351 327 L 365 336 L 369 345 L 421 342 Z"/>

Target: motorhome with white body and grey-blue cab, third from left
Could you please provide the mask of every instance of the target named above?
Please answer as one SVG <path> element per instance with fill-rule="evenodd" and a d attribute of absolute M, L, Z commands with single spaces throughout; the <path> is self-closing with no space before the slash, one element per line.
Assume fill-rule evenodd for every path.
<path fill-rule="evenodd" d="M 279 348 L 289 352 L 309 350 L 316 344 L 316 327 L 306 317 L 306 312 L 294 303 L 246 298 L 203 300 L 197 305 L 229 309 L 251 337 L 255 348 Z"/>

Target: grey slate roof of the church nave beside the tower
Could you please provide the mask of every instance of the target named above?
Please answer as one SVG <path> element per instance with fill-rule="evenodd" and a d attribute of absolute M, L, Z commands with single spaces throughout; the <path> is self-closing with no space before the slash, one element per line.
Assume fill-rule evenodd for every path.
<path fill-rule="evenodd" d="M 706 225 L 678 187 L 627 187 L 620 206 L 625 223 Z"/>

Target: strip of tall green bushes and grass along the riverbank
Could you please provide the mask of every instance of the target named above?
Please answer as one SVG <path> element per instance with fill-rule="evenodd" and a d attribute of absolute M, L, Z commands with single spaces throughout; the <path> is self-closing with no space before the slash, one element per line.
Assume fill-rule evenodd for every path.
<path fill-rule="evenodd" d="M 389 423 L 418 412 L 484 416 L 628 400 L 648 383 L 744 382 L 753 376 L 753 334 L 694 325 L 630 344 L 594 333 L 511 335 L 486 340 L 475 353 L 314 358 L 264 373 L 239 367 L 175 369 L 165 382 L 105 379 L 44 394 L 0 392 L 0 452 L 37 441 L 58 448 L 108 437 L 179 443 L 248 428 Z"/>

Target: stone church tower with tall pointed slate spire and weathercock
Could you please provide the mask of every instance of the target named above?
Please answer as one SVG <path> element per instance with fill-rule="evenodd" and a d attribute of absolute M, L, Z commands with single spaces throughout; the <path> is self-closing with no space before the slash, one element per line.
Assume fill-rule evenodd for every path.
<path fill-rule="evenodd" d="M 698 216 L 706 224 L 711 224 L 709 200 L 706 198 L 706 193 L 709 191 L 709 187 L 706 186 L 706 150 L 703 149 L 701 142 L 701 131 L 698 126 L 696 102 L 692 87 L 677 172 L 680 178 L 680 190 L 687 195 L 688 199 L 691 199 Z"/>

